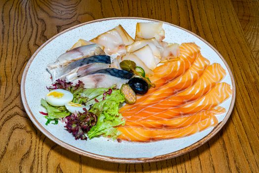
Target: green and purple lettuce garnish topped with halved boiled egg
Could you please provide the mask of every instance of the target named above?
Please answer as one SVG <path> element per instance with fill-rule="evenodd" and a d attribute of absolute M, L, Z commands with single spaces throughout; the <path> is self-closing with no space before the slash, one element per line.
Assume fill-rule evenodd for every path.
<path fill-rule="evenodd" d="M 58 120 L 61 120 L 75 139 L 86 140 L 87 136 L 91 139 L 100 135 L 116 139 L 120 135 L 116 126 L 125 124 L 119 114 L 119 105 L 125 101 L 123 94 L 115 86 L 83 86 L 81 81 L 72 85 L 71 82 L 57 80 L 47 87 L 49 93 L 45 99 L 41 99 L 41 105 L 47 113 L 40 112 L 47 119 L 46 125 L 58 124 Z"/>

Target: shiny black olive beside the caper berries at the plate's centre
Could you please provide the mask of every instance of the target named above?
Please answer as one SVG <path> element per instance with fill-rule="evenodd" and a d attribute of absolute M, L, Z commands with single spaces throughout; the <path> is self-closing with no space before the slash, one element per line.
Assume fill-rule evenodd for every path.
<path fill-rule="evenodd" d="M 136 94 L 143 95 L 148 92 L 148 83 L 141 78 L 131 78 L 128 84 Z"/>

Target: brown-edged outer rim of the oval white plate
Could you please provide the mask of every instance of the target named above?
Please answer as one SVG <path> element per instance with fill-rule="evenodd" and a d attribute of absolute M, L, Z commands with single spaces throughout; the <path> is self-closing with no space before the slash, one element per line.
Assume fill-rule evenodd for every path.
<path fill-rule="evenodd" d="M 73 30 L 74 28 L 83 26 L 83 25 L 87 25 L 90 23 L 95 23 L 95 22 L 101 22 L 101 21 L 106 21 L 106 20 L 116 20 L 116 19 L 143 19 L 143 20 L 148 20 L 151 22 L 162 22 L 164 24 L 167 25 L 171 25 L 173 27 L 177 27 L 181 30 L 184 30 L 192 35 L 194 35 L 195 37 L 197 37 L 198 39 L 200 39 L 201 41 L 203 41 L 204 43 L 206 43 L 207 45 L 209 45 L 222 59 L 223 63 L 225 64 L 228 73 L 230 75 L 231 78 L 231 83 L 232 83 L 232 98 L 231 98 L 231 103 L 229 106 L 229 109 L 226 113 L 225 118 L 222 120 L 221 123 L 219 123 L 208 135 L 206 135 L 205 137 L 203 137 L 202 139 L 200 139 L 199 141 L 193 143 L 192 145 L 185 147 L 181 150 L 172 152 L 172 153 L 168 153 L 168 154 L 164 154 L 164 155 L 160 155 L 160 156 L 155 156 L 155 157 L 145 157 L 145 158 L 116 158 L 116 157 L 109 157 L 109 156 L 102 156 L 102 155 L 98 155 L 98 154 L 94 154 L 94 153 L 90 153 L 84 150 L 81 150 L 79 148 L 76 148 L 68 143 L 63 142 L 62 140 L 56 138 L 53 134 L 49 133 L 35 118 L 35 116 L 33 115 L 27 99 L 26 99 L 26 95 L 25 95 L 25 80 L 26 80 L 26 76 L 27 76 L 27 72 L 28 69 L 31 65 L 31 63 L 33 62 L 34 58 L 37 56 L 38 52 L 45 46 L 47 45 L 49 42 L 51 42 L 52 40 L 54 40 L 56 37 L 58 37 L 59 35 L 62 35 L 63 33 L 66 33 L 70 30 Z M 162 160 L 166 160 L 166 159 L 170 159 L 170 158 L 174 158 L 180 155 L 183 155 L 187 152 L 190 152 L 196 148 L 198 148 L 199 146 L 203 145 L 204 143 L 206 143 L 209 139 L 211 139 L 215 134 L 217 134 L 222 127 L 224 126 L 224 124 L 226 123 L 226 121 L 228 120 L 228 118 L 230 117 L 230 114 L 233 110 L 234 107 L 234 103 L 235 103 L 235 96 L 236 96 L 236 87 L 235 87 L 235 82 L 234 82 L 234 77 L 232 75 L 232 72 L 228 66 L 228 64 L 226 63 L 225 59 L 222 57 L 222 55 L 219 53 L 218 50 L 216 50 L 210 43 L 208 43 L 207 41 L 205 41 L 204 39 L 202 39 L 200 36 L 182 28 L 179 27 L 177 25 L 173 25 L 171 23 L 168 22 L 163 22 L 163 21 L 159 21 L 159 20 L 154 20 L 154 19 L 148 19 L 148 18 L 140 18 L 140 17 L 112 17 L 112 18 L 104 18 L 104 19 L 98 19 L 98 20 L 93 20 L 93 21 L 89 21 L 89 22 L 85 22 L 79 25 L 76 25 L 74 27 L 71 27 L 69 29 L 66 29 L 60 33 L 58 33 L 57 35 L 53 36 L 52 38 L 50 38 L 48 41 L 46 41 L 45 43 L 43 43 L 37 50 L 36 52 L 33 54 L 33 56 L 30 58 L 30 60 L 28 61 L 24 72 L 23 72 L 23 76 L 22 76 L 22 80 L 21 80 L 21 97 L 22 97 L 22 102 L 25 108 L 26 113 L 28 114 L 28 116 L 30 117 L 31 121 L 33 122 L 33 124 L 37 127 L 37 129 L 39 129 L 44 135 L 46 135 L 49 139 L 51 139 L 53 142 L 57 143 L 58 145 L 83 156 L 87 156 L 87 157 L 91 157 L 94 159 L 98 159 L 101 161 L 107 161 L 107 162 L 113 162 L 113 163 L 148 163 L 148 162 L 157 162 L 157 161 L 162 161 Z"/>

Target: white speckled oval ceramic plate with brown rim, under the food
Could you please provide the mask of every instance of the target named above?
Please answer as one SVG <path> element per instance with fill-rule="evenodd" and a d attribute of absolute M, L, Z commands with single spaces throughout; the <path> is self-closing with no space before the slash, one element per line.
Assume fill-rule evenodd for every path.
<path fill-rule="evenodd" d="M 201 53 L 204 57 L 209 59 L 211 63 L 220 63 L 226 70 L 227 75 L 222 82 L 226 82 L 231 86 L 233 94 L 221 104 L 226 109 L 226 113 L 217 116 L 221 123 L 216 127 L 188 137 L 150 143 L 126 141 L 118 143 L 104 137 L 96 137 L 85 141 L 75 140 L 73 135 L 64 129 L 64 124 L 62 123 L 46 126 L 46 119 L 39 114 L 39 111 L 44 111 L 44 108 L 40 106 L 40 99 L 44 98 L 48 92 L 45 86 L 51 85 L 50 74 L 46 70 L 48 63 L 54 62 L 60 54 L 72 47 L 78 39 L 91 40 L 119 24 L 134 38 L 136 23 L 150 21 L 160 22 L 129 17 L 90 21 L 67 29 L 42 44 L 29 60 L 21 83 L 22 101 L 35 126 L 48 138 L 75 153 L 117 163 L 153 162 L 176 157 L 197 148 L 213 137 L 225 124 L 233 109 L 235 85 L 231 71 L 222 55 L 208 42 L 181 27 L 166 22 L 163 22 L 166 33 L 164 41 L 170 43 L 194 42 L 201 47 Z"/>

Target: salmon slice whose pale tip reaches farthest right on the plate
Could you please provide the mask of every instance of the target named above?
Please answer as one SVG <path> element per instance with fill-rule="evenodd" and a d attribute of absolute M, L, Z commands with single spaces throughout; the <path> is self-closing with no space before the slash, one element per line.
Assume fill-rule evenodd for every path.
<path fill-rule="evenodd" d="M 161 120 L 175 118 L 180 115 L 193 114 L 217 106 L 227 99 L 231 93 L 232 90 L 228 84 L 218 83 L 206 95 L 193 102 L 186 103 L 185 105 L 167 109 L 165 109 L 162 104 L 160 104 L 159 107 L 148 105 L 145 110 L 124 118 L 127 121 Z M 124 113 L 122 116 L 124 116 Z"/>

